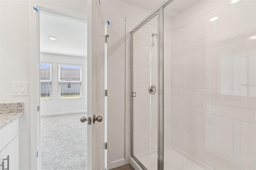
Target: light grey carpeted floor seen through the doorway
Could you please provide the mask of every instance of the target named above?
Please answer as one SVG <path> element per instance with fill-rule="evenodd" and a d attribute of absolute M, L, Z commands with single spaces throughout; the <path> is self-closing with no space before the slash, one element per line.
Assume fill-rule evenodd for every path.
<path fill-rule="evenodd" d="M 42 170 L 87 169 L 86 113 L 41 117 Z"/>

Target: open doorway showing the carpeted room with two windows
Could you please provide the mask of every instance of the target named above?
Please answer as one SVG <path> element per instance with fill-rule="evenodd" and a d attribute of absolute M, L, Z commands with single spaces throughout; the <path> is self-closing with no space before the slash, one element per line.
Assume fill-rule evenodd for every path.
<path fill-rule="evenodd" d="M 41 169 L 87 169 L 87 21 L 40 9 L 39 42 Z"/>

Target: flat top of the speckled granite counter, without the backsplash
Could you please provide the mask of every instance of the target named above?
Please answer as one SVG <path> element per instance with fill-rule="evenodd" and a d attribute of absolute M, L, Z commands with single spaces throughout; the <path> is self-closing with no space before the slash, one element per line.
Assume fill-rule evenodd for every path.
<path fill-rule="evenodd" d="M 6 126 L 9 125 L 10 123 L 12 123 L 13 121 L 15 121 L 15 120 L 18 119 L 19 117 L 21 117 L 22 115 L 24 115 L 24 112 L 20 112 L 20 113 L 3 113 L 3 114 L 0 114 L 0 129 L 6 127 Z"/>

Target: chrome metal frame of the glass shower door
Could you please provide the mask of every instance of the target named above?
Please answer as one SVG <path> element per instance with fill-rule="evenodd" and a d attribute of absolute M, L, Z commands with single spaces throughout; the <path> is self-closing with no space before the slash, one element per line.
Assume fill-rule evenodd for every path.
<path fill-rule="evenodd" d="M 155 16 L 158 16 L 158 170 L 164 170 L 164 7 L 172 0 L 167 0 L 140 24 L 130 31 L 131 92 L 133 92 L 133 34 Z M 133 154 L 133 97 L 131 97 L 131 156 L 144 169 L 146 167 Z"/>

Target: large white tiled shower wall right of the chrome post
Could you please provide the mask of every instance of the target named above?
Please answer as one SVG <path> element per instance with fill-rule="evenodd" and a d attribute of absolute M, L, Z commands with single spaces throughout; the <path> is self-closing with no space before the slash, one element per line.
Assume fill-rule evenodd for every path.
<path fill-rule="evenodd" d="M 232 2 L 172 19 L 172 145 L 214 169 L 256 169 L 256 1 Z"/>

